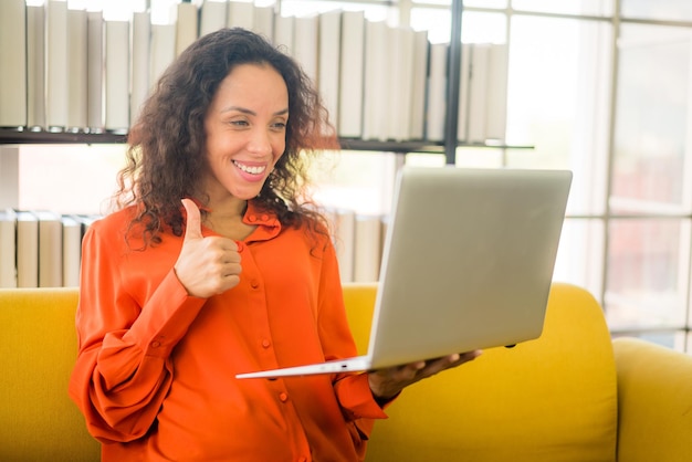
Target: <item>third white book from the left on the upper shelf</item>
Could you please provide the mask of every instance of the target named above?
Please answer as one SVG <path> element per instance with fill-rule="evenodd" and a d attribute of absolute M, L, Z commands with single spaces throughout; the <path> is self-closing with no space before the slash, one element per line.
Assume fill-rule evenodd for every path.
<path fill-rule="evenodd" d="M 67 2 L 49 0 L 46 19 L 46 125 L 50 128 L 64 129 L 67 127 L 67 95 L 70 91 L 67 83 Z"/>

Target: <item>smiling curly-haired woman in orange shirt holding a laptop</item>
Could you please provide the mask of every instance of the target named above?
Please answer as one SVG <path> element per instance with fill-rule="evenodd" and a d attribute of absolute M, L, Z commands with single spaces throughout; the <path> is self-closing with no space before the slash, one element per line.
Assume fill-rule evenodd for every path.
<path fill-rule="evenodd" d="M 359 375 L 235 374 L 356 355 L 303 156 L 327 114 L 260 36 L 199 39 L 130 134 L 84 238 L 70 392 L 103 461 L 357 461 L 403 387 L 476 353 Z"/>

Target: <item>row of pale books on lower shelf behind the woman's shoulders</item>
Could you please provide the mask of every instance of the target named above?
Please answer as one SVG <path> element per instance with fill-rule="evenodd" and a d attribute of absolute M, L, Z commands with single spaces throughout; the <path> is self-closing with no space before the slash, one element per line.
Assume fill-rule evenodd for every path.
<path fill-rule="evenodd" d="M 334 245 L 344 282 L 376 282 L 386 219 L 333 210 Z M 78 286 L 84 233 L 97 216 L 0 211 L 0 287 Z"/>

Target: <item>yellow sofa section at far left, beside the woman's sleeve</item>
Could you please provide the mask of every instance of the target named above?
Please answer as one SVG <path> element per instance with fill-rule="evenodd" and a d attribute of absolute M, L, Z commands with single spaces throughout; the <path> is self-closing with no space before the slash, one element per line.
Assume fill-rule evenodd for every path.
<path fill-rule="evenodd" d="M 77 297 L 76 287 L 0 288 L 1 461 L 99 460 L 67 396 Z"/>

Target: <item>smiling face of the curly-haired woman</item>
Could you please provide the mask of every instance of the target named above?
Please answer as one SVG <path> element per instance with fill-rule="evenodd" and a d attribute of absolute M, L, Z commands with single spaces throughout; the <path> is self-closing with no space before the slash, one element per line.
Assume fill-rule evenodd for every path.
<path fill-rule="evenodd" d="M 241 64 L 226 76 L 205 117 L 212 203 L 260 193 L 285 148 L 289 92 L 270 65 Z"/>

